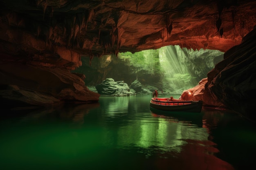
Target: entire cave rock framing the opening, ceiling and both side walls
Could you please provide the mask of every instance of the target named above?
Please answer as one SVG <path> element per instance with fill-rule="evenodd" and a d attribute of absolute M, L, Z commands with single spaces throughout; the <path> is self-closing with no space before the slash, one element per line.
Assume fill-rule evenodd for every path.
<path fill-rule="evenodd" d="M 98 101 L 86 77 L 70 73 L 81 57 L 180 45 L 225 52 L 200 90 L 190 89 L 195 98 L 255 118 L 255 0 L 0 0 L 0 8 L 1 101 Z"/>

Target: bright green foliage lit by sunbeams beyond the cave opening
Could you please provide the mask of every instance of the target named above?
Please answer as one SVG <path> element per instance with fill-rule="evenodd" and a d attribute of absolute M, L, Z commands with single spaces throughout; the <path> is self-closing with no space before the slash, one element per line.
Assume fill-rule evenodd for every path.
<path fill-rule="evenodd" d="M 167 53 L 168 52 L 168 53 Z M 145 50 L 137 53 L 119 53 L 119 58 L 128 66 L 132 66 L 130 73 L 137 73 L 137 78 L 143 73 L 151 74 L 151 78 L 160 76 L 161 83 L 166 83 L 166 88 L 188 89 L 193 86 L 196 77 L 186 73 L 180 64 L 177 53 L 167 51 L 166 48 Z M 167 53 L 167 54 L 166 54 Z M 166 57 L 168 55 L 168 57 Z M 139 71 L 142 71 L 140 74 Z M 185 72 L 185 73 L 184 73 Z"/>

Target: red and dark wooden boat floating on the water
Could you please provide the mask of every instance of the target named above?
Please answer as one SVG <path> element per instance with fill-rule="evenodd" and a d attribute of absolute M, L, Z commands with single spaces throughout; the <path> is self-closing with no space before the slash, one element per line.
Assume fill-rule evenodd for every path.
<path fill-rule="evenodd" d="M 180 99 L 157 98 L 153 97 L 150 100 L 150 108 L 164 111 L 182 111 L 182 112 L 201 112 L 202 100 L 185 101 Z"/>

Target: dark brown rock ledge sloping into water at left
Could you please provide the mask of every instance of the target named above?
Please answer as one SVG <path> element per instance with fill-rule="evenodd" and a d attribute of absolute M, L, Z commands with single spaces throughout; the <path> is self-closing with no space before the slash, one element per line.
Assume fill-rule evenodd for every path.
<path fill-rule="evenodd" d="M 69 70 L 29 66 L 20 63 L 0 64 L 0 101 L 3 107 L 45 106 L 61 101 L 92 103 L 99 100 L 83 80 Z M 10 101 L 10 102 L 6 102 Z"/>

